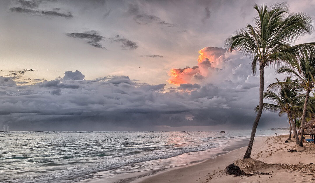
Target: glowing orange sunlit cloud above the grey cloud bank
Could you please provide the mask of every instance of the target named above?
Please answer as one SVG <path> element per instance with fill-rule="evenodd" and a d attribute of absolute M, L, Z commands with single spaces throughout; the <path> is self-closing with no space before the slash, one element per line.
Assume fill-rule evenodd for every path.
<path fill-rule="evenodd" d="M 187 83 L 198 83 L 209 75 L 209 68 L 219 65 L 217 59 L 224 55 L 226 49 L 217 47 L 205 47 L 199 50 L 198 66 L 185 67 L 183 69 L 171 69 L 169 71 L 170 84 L 180 85 Z"/>

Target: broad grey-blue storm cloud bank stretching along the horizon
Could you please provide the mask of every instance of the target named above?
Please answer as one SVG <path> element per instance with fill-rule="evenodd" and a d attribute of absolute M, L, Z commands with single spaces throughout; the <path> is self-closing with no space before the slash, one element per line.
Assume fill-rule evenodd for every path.
<path fill-rule="evenodd" d="M 7 125 L 12 130 L 117 130 L 118 127 L 135 130 L 214 125 L 250 128 L 255 119 L 253 108 L 258 104 L 259 78 L 244 64 L 248 60 L 235 52 L 219 58 L 214 64 L 220 69 L 209 70 L 211 77 L 205 77 L 201 83 L 169 89 L 163 83 L 138 83 L 128 76 L 84 80 L 80 71 L 66 71 L 63 77 L 32 85 L 19 85 L 23 83 L 0 77 L 3 109 L 0 127 Z M 274 77 L 269 72 L 265 72 L 267 83 Z M 277 114 L 263 114 L 260 125 L 267 127 L 279 120 Z"/>

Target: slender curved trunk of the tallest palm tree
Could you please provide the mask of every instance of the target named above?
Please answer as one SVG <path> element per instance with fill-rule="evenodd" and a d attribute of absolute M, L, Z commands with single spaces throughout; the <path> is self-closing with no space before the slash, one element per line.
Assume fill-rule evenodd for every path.
<path fill-rule="evenodd" d="M 244 159 L 250 158 L 250 154 L 252 153 L 252 147 L 254 143 L 256 129 L 257 129 L 257 125 L 261 117 L 261 113 L 262 113 L 262 109 L 264 105 L 264 67 L 265 66 L 263 65 L 259 66 L 259 107 L 258 107 L 257 116 L 253 124 L 252 133 L 250 134 L 249 144 L 247 146 L 247 150 L 243 157 Z"/>

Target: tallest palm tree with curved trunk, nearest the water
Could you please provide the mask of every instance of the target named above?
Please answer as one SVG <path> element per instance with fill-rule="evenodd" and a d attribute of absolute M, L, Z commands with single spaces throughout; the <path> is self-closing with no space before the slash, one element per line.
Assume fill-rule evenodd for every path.
<path fill-rule="evenodd" d="M 313 31 L 313 21 L 305 13 L 289 14 L 286 3 L 275 3 L 270 7 L 266 4 L 254 4 L 257 16 L 254 26 L 247 24 L 238 29 L 225 41 L 229 51 L 238 50 L 241 54 L 252 58 L 252 72 L 255 74 L 259 66 L 259 108 L 253 123 L 249 144 L 244 155 L 249 158 L 255 133 L 263 110 L 264 68 L 276 66 L 279 62 L 296 64 L 296 55 L 312 52 L 315 43 L 304 43 L 291 46 L 299 37 Z"/>

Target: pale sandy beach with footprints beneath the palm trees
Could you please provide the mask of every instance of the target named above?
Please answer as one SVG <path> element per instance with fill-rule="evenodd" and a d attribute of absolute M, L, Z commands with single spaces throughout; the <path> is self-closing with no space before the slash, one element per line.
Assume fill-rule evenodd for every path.
<path fill-rule="evenodd" d="M 295 142 L 284 143 L 288 135 L 256 137 L 252 158 L 268 163 L 257 171 L 269 174 L 233 177 L 224 172 L 228 164 L 242 158 L 246 147 L 220 155 L 201 163 L 166 169 L 157 174 L 142 177 L 132 183 L 163 182 L 315 182 L 315 145 L 304 144 L 304 152 L 288 152 Z M 309 136 L 306 136 L 308 139 Z"/>

